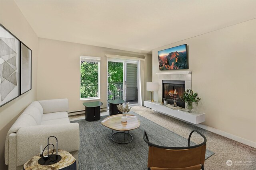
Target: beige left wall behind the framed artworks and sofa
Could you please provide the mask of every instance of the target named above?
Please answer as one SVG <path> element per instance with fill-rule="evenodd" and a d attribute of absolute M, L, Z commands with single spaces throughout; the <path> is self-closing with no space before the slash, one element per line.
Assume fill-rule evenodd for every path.
<path fill-rule="evenodd" d="M 0 107 L 0 169 L 5 170 L 4 144 L 6 134 L 22 110 L 36 100 L 38 37 L 12 0 L 0 1 L 0 23 L 32 50 L 32 90 Z"/>

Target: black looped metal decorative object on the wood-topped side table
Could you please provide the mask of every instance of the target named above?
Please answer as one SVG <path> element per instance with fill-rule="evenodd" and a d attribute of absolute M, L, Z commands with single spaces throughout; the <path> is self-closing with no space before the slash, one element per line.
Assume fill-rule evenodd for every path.
<path fill-rule="evenodd" d="M 54 136 L 50 136 L 50 137 L 54 137 Z M 58 155 L 58 139 L 56 137 L 54 137 L 56 139 L 56 154 L 54 156 L 53 155 L 54 145 L 52 143 L 49 144 L 49 138 L 50 137 L 48 137 L 48 143 L 46 145 L 46 147 L 47 147 L 47 155 L 44 156 L 44 150 L 46 149 L 46 147 L 44 147 L 42 158 L 40 158 L 38 160 L 38 164 L 40 164 L 40 165 L 55 164 L 55 163 L 59 162 L 62 159 L 62 157 L 60 155 Z M 49 145 L 53 146 L 52 154 L 50 154 L 50 155 L 49 155 Z"/>

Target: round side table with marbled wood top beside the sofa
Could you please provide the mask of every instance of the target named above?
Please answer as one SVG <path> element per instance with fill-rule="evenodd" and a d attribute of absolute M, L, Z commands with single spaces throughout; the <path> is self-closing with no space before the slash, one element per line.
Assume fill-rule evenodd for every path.
<path fill-rule="evenodd" d="M 52 149 L 49 149 L 49 153 L 52 153 Z M 44 155 L 46 154 L 47 150 L 44 151 Z M 41 157 L 40 154 L 37 154 L 24 164 L 23 170 L 76 170 L 76 158 L 74 158 L 72 154 L 70 154 L 66 150 L 60 149 L 58 149 L 58 154 L 62 157 L 62 159 L 60 160 L 60 162 L 51 165 L 38 164 L 38 159 L 40 159 Z"/>

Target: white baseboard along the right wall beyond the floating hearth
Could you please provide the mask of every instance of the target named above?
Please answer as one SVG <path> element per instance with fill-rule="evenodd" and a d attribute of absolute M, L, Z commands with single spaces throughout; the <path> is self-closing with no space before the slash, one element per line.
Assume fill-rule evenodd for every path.
<path fill-rule="evenodd" d="M 207 126 L 207 125 L 198 124 L 198 125 L 196 125 L 196 126 L 202 128 L 202 129 L 205 129 L 205 130 L 207 130 L 207 131 L 210 131 L 210 132 L 212 132 L 212 133 L 216 133 L 216 134 L 218 134 L 218 135 L 224 136 L 224 137 L 226 137 L 226 138 L 228 138 L 228 139 L 232 139 L 232 140 L 234 140 L 234 141 L 237 141 L 237 142 L 243 143 L 243 144 L 245 144 L 245 145 L 248 145 L 248 146 L 250 146 L 250 147 L 256 148 L 256 143 L 253 142 L 253 141 L 249 141 L 249 140 L 244 139 L 244 138 L 242 138 L 242 137 L 238 137 L 238 136 L 236 136 L 236 135 L 232 135 L 232 134 L 230 134 L 230 133 L 221 131 L 221 130 L 219 130 L 219 129 L 216 129 L 216 128 L 214 128 L 214 127 L 210 127 L 210 126 Z"/>

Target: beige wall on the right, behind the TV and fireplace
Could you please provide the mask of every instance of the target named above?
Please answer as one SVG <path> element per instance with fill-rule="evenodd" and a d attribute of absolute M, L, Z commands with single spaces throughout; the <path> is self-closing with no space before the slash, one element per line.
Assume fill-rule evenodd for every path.
<path fill-rule="evenodd" d="M 155 72 L 164 72 L 157 52 L 186 43 L 192 89 L 202 98 L 194 108 L 206 113 L 203 124 L 256 142 L 255 30 L 256 19 L 154 49 L 153 82 Z"/>

